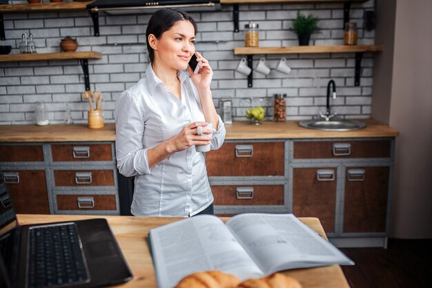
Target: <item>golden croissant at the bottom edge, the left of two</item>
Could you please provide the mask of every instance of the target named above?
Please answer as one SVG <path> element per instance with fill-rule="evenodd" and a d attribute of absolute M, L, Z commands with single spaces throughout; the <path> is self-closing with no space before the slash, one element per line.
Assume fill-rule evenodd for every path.
<path fill-rule="evenodd" d="M 192 273 L 181 279 L 175 288 L 236 288 L 240 280 L 222 271 Z"/>

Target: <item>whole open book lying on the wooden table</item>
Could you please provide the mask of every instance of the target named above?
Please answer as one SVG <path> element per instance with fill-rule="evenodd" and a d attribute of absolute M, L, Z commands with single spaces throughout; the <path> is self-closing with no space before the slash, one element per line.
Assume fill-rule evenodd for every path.
<path fill-rule="evenodd" d="M 286 269 L 354 264 L 293 214 L 244 213 L 226 224 L 199 215 L 152 229 L 149 240 L 159 288 L 173 288 L 197 271 L 220 270 L 245 280 Z"/>

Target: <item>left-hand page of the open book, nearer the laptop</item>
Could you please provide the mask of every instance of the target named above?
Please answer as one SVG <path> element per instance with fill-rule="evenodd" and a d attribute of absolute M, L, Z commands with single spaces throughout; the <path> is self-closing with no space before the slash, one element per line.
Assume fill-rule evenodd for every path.
<path fill-rule="evenodd" d="M 240 280 L 264 276 L 224 222 L 199 215 L 150 231 L 157 287 L 172 288 L 190 273 L 220 270 Z"/>

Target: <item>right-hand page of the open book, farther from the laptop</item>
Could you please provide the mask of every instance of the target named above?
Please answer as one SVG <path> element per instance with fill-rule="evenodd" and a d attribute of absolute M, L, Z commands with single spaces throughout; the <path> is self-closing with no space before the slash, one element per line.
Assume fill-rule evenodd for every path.
<path fill-rule="evenodd" d="M 353 264 L 293 214 L 245 213 L 226 222 L 264 273 L 292 268 Z"/>

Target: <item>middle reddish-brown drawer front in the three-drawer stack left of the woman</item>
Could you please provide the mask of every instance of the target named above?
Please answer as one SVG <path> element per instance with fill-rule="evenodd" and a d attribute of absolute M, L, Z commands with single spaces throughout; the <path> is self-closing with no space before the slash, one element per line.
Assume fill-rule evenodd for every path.
<path fill-rule="evenodd" d="M 112 170 L 55 170 L 55 186 L 114 186 Z"/>

